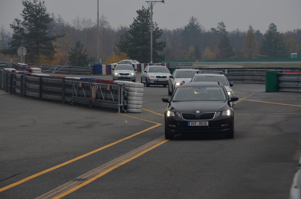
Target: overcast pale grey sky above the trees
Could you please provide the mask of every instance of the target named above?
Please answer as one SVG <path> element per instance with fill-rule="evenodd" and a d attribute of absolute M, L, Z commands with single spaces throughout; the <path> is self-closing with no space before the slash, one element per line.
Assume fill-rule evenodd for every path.
<path fill-rule="evenodd" d="M 65 20 L 91 18 L 97 20 L 97 0 L 45 0 L 48 13 Z M 129 26 L 137 17 L 136 10 L 148 7 L 143 0 L 99 0 L 99 16 L 104 15 L 110 26 Z M 22 0 L 0 0 L 0 26 L 9 30 L 14 18 L 22 17 Z M 159 28 L 173 30 L 188 24 L 191 16 L 206 30 L 217 27 L 221 21 L 227 31 L 248 30 L 251 24 L 262 33 L 271 23 L 278 31 L 301 29 L 301 0 L 165 0 L 153 6 L 153 21 Z"/>

